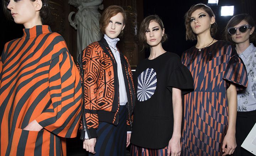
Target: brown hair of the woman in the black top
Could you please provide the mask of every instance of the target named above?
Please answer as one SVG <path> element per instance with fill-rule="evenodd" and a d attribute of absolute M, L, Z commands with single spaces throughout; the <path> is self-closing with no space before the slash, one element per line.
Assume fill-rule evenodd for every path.
<path fill-rule="evenodd" d="M 149 23 L 151 21 L 155 21 L 156 23 L 158 23 L 161 27 L 161 29 L 164 29 L 164 24 L 162 22 L 162 20 L 159 18 L 158 15 L 150 15 L 146 18 L 144 18 L 144 20 L 142 21 L 142 23 L 140 24 L 140 30 L 139 30 L 139 41 L 142 44 L 142 50 L 146 47 L 148 48 L 149 45 L 147 43 L 146 40 L 146 30 L 149 27 Z M 167 40 L 167 35 L 164 33 L 164 36 L 162 37 L 161 43 L 165 42 Z"/>

